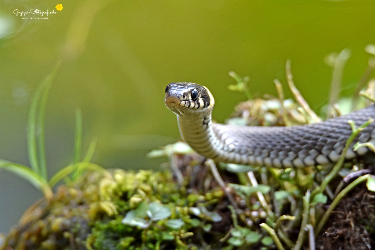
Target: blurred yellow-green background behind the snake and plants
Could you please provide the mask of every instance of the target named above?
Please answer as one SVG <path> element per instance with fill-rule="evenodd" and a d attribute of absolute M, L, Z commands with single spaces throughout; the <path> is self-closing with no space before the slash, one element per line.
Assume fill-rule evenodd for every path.
<path fill-rule="evenodd" d="M 21 19 L 15 9 L 63 10 Z M 214 118 L 223 122 L 245 95 L 230 92 L 230 70 L 249 88 L 276 94 L 291 59 L 297 87 L 319 112 L 332 69 L 327 54 L 350 48 L 342 96 L 350 96 L 375 43 L 372 0 L 0 0 L 0 159 L 28 164 L 27 115 L 38 84 L 62 59 L 46 110 L 49 174 L 73 160 L 74 114 L 83 114 L 83 152 L 98 138 L 93 162 L 105 168 L 158 168 L 152 148 L 180 138 L 164 105 L 169 82 L 210 88 Z M 26 17 L 37 17 L 28 14 Z M 45 16 L 45 15 L 43 15 Z M 285 87 L 287 97 L 290 92 Z M 0 172 L 0 232 L 7 232 L 42 194 Z"/>

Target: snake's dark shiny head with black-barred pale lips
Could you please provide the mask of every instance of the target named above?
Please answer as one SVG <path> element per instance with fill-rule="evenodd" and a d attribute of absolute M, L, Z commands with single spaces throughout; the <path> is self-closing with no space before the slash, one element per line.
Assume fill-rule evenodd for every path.
<path fill-rule="evenodd" d="M 177 115 L 207 115 L 214 99 L 210 91 L 190 82 L 171 82 L 165 87 L 164 103 Z"/>

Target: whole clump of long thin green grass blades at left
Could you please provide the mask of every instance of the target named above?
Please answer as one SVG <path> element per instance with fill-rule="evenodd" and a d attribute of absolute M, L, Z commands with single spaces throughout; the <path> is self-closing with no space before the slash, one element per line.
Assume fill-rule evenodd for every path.
<path fill-rule="evenodd" d="M 61 179 L 67 178 L 73 172 L 72 180 L 76 180 L 86 168 L 99 169 L 99 166 L 89 164 L 95 150 L 96 140 L 92 140 L 83 161 L 81 159 L 82 115 L 76 112 L 75 158 L 74 164 L 67 166 L 48 180 L 46 148 L 45 148 L 45 110 L 49 89 L 60 63 L 57 63 L 51 73 L 37 88 L 31 101 L 27 124 L 27 151 L 30 167 L 0 159 L 0 169 L 10 171 L 29 181 L 41 190 L 47 200 L 53 197 L 52 187 Z"/>

